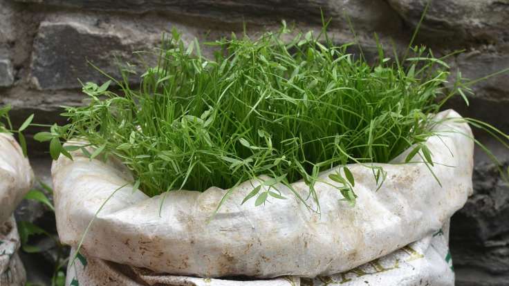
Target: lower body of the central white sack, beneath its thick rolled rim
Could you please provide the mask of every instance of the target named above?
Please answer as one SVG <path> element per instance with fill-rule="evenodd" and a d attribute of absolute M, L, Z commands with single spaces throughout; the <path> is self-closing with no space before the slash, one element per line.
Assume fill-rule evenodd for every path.
<path fill-rule="evenodd" d="M 366 286 L 440 285 L 454 286 L 454 271 L 448 245 L 448 223 L 436 233 L 393 253 L 333 276 L 298 278 L 285 276 L 270 280 L 227 280 L 169 276 L 118 265 L 80 255 L 69 262 L 66 285 L 185 285 L 185 286 Z M 71 256 L 74 250 L 71 251 Z"/>

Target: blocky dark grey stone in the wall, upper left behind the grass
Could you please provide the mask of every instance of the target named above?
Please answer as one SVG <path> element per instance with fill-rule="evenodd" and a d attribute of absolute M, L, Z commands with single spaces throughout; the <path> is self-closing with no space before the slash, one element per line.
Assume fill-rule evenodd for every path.
<path fill-rule="evenodd" d="M 119 27 L 122 30 L 119 31 Z M 129 36 L 146 31 L 128 32 L 124 28 L 121 23 L 104 23 L 93 18 L 64 17 L 43 21 L 34 42 L 33 83 L 39 89 L 62 89 L 79 87 L 78 79 L 104 82 L 106 77 L 91 64 L 115 78 L 120 78 L 120 63 L 124 61 L 139 64 L 139 71 L 142 63 L 136 62 L 132 52 L 147 49 L 150 44 L 156 46 L 157 38 L 136 41 L 139 37 Z M 115 64 L 116 60 L 119 66 Z"/>

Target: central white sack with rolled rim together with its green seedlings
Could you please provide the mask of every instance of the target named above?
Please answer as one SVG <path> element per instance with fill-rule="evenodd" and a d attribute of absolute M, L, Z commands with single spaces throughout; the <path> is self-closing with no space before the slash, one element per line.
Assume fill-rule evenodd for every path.
<path fill-rule="evenodd" d="M 208 44 L 212 58 L 174 31 L 139 88 L 129 70 L 84 84 L 89 104 L 36 135 L 50 141 L 59 237 L 75 249 L 69 285 L 358 285 L 403 262 L 401 283 L 454 283 L 443 233 L 472 193 L 469 124 L 508 136 L 441 111 L 456 95 L 468 104 L 473 83 L 443 87 L 447 56 L 379 44 L 369 66 L 326 26 L 233 35 Z"/>

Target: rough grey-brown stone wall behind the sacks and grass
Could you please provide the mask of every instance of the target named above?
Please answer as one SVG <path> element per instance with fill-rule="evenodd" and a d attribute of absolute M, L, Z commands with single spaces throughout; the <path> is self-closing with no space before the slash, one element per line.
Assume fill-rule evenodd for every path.
<path fill-rule="evenodd" d="M 30 113 L 38 123 L 61 122 L 59 106 L 80 104 L 82 82 L 106 79 L 94 64 L 118 75 L 118 63 L 134 70 L 144 63 L 136 50 L 158 46 L 163 32 L 177 28 L 184 39 L 217 39 L 242 32 L 275 29 L 286 19 L 303 30 L 320 29 L 320 9 L 333 19 L 338 44 L 352 41 L 348 16 L 365 55 L 375 54 L 373 32 L 387 47 L 402 50 L 425 9 L 426 0 L 0 0 L 0 104 L 11 104 L 19 124 Z M 464 77 L 475 79 L 509 67 L 508 0 L 435 0 L 417 41 L 445 55 Z M 205 51 L 207 52 L 207 51 Z M 210 52 L 210 51 L 208 51 Z M 136 79 L 136 77 L 133 77 Z M 509 73 L 474 87 L 470 108 L 450 103 L 461 114 L 487 120 L 509 133 Z M 33 128 L 32 132 L 36 130 Z M 482 133 L 506 164 L 509 154 Z M 30 158 L 48 178 L 47 146 L 30 140 Z M 452 219 L 451 247 L 457 285 L 509 285 L 509 187 L 497 168 L 476 151 L 474 196 Z M 41 220 L 26 205 L 19 216 Z M 37 213 L 30 216 L 30 212 Z M 44 220 L 44 218 L 42 218 Z M 30 259 L 28 259 L 30 260 Z M 39 269 L 33 261 L 28 271 Z M 44 276 L 44 274 L 42 274 Z M 32 274 L 35 276 L 35 274 Z M 44 277 L 40 279 L 44 280 Z M 39 279 L 37 278 L 37 279 Z"/>

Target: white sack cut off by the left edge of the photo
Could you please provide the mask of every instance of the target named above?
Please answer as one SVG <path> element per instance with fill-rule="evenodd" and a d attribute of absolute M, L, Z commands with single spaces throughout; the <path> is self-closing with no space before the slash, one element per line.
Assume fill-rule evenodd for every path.
<path fill-rule="evenodd" d="M 33 171 L 19 144 L 0 133 L 0 286 L 25 285 L 26 274 L 17 254 L 19 235 L 12 212 L 33 184 Z"/>

